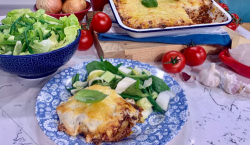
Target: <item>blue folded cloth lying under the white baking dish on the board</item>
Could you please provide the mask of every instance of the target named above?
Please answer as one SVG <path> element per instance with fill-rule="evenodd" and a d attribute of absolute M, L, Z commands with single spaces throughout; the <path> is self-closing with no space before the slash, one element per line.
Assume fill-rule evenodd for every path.
<path fill-rule="evenodd" d="M 112 26 L 113 27 L 113 26 Z M 121 28 L 120 28 L 121 29 Z M 190 34 L 181 36 L 160 36 L 150 38 L 133 38 L 126 33 L 100 33 L 98 34 L 100 41 L 135 41 L 135 42 L 158 42 L 167 44 L 183 44 L 187 45 L 193 41 L 196 45 L 201 44 L 218 44 L 229 46 L 231 39 L 227 32 L 221 33 L 206 33 L 206 34 Z"/>

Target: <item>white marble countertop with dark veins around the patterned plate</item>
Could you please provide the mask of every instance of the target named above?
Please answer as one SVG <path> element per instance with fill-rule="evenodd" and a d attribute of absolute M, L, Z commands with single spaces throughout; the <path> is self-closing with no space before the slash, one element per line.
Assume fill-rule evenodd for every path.
<path fill-rule="evenodd" d="M 92 46 L 77 51 L 73 58 L 57 72 L 77 63 L 98 59 Z M 197 70 L 207 68 L 211 62 L 217 69 L 233 74 L 217 55 L 207 57 L 204 64 L 183 70 L 198 76 Z M 162 69 L 160 63 L 150 62 Z M 56 73 L 57 73 L 56 72 Z M 55 75 L 54 73 L 53 75 Z M 54 145 L 40 129 L 35 116 L 36 98 L 41 88 L 53 76 L 41 79 L 23 79 L 0 70 L 0 144 L 1 145 Z M 249 145 L 250 94 L 229 95 L 221 87 L 209 88 L 198 81 L 185 83 L 179 74 L 171 76 L 182 86 L 189 104 L 188 121 L 181 132 L 168 145 Z M 245 83 L 250 79 L 237 75 Z"/>

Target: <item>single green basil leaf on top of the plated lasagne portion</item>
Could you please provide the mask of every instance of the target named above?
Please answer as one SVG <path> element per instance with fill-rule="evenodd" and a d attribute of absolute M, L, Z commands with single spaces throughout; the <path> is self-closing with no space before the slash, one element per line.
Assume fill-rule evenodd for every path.
<path fill-rule="evenodd" d="M 107 96 L 108 95 L 96 90 L 83 89 L 76 93 L 75 99 L 84 103 L 97 103 Z"/>

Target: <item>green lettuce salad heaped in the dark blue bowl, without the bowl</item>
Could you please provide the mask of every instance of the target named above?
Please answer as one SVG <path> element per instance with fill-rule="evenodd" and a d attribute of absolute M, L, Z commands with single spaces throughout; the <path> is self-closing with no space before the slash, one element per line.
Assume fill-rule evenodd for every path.
<path fill-rule="evenodd" d="M 0 54 L 30 55 L 53 51 L 72 43 L 80 25 L 77 17 L 56 19 L 43 9 L 15 9 L 0 25 Z"/>

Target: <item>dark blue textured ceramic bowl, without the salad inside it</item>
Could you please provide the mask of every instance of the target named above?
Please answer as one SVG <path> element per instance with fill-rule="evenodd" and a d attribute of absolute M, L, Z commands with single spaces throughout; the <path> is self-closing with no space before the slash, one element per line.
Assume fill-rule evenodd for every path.
<path fill-rule="evenodd" d="M 33 55 L 1 55 L 0 69 L 22 78 L 41 78 L 53 74 L 70 60 L 79 45 L 81 31 L 74 42 L 60 49 Z"/>

